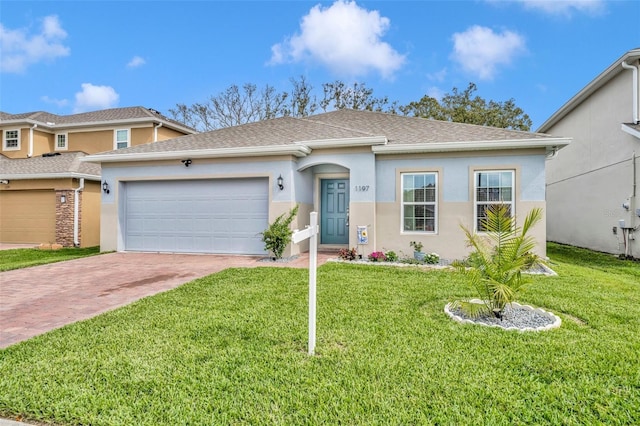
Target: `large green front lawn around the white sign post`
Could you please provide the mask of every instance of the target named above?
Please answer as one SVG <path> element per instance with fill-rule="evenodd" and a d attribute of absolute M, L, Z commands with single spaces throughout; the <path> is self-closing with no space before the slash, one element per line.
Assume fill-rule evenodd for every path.
<path fill-rule="evenodd" d="M 523 302 L 559 329 L 444 313 L 461 277 L 407 267 L 229 269 L 0 351 L 0 414 L 58 424 L 638 424 L 638 264 L 550 245 Z"/>

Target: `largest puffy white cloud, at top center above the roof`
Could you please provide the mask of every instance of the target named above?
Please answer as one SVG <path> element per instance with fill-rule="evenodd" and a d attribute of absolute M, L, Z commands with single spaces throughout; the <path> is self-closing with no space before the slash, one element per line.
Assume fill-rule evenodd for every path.
<path fill-rule="evenodd" d="M 390 78 L 405 56 L 382 41 L 389 25 L 389 18 L 355 1 L 316 5 L 302 18 L 299 34 L 271 47 L 270 63 L 318 62 L 346 77 L 377 71 Z"/>

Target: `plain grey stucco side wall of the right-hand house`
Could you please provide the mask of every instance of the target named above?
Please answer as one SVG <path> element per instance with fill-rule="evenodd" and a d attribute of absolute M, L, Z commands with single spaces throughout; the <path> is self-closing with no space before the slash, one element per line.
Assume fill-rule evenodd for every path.
<path fill-rule="evenodd" d="M 633 194 L 633 160 L 640 140 L 621 130 L 630 122 L 632 78 L 621 72 L 547 130 L 573 142 L 547 161 L 548 229 L 550 241 L 621 253 L 620 219 L 637 216 L 622 208 Z M 635 159 L 636 167 L 640 160 Z M 640 173 L 636 173 L 640 187 Z M 640 195 L 640 194 L 636 194 Z M 637 207 L 636 207 L 637 208 Z M 634 255 L 640 242 L 631 242 Z"/>

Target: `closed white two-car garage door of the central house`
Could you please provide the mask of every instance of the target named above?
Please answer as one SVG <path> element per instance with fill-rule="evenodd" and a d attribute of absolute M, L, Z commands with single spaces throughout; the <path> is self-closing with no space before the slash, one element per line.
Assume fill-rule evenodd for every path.
<path fill-rule="evenodd" d="M 264 254 L 267 179 L 128 182 L 125 250 Z"/>

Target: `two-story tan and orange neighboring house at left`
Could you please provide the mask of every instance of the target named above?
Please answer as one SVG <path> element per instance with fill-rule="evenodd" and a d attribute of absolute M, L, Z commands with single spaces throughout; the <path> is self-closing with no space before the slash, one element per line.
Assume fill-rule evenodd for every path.
<path fill-rule="evenodd" d="M 195 133 L 155 110 L 0 112 L 0 242 L 100 242 L 100 166 L 86 154 Z"/>

